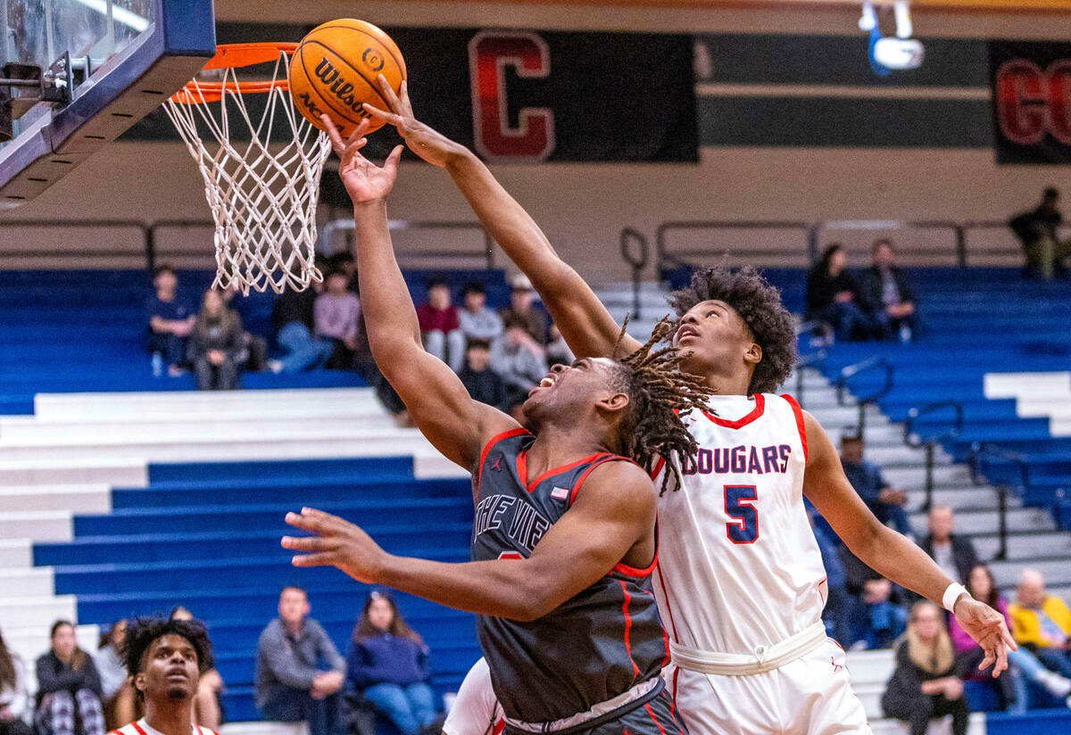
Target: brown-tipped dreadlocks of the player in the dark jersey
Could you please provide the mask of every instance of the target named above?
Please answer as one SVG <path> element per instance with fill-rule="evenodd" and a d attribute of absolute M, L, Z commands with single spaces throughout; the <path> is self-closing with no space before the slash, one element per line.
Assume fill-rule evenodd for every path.
<path fill-rule="evenodd" d="M 612 356 L 617 358 L 629 325 L 625 319 Z M 619 386 L 629 395 L 629 411 L 621 419 L 618 433 L 623 444 L 622 454 L 636 461 L 648 473 L 654 470 L 659 459 L 665 460 L 673 469 L 673 475 L 680 487 L 678 466 L 687 457 L 699 450 L 696 441 L 684 428 L 681 416 L 693 410 L 706 410 L 710 388 L 698 376 L 680 371 L 681 355 L 675 348 L 655 350 L 654 346 L 673 333 L 675 322 L 664 317 L 647 343 L 625 357 L 617 358 L 621 379 Z M 674 462 L 676 455 L 678 461 Z M 662 479 L 659 494 L 665 494 L 669 485 L 669 473 Z"/>

